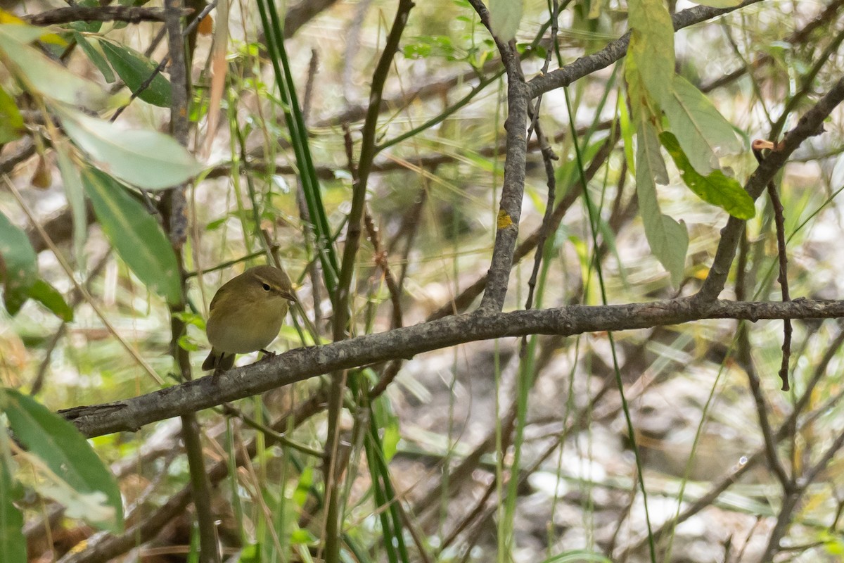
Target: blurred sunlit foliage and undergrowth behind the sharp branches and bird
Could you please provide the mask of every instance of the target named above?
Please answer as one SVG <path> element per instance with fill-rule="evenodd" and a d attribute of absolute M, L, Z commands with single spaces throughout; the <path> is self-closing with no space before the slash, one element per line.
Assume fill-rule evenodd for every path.
<path fill-rule="evenodd" d="M 19 16 L 56 7 L 46 2 L 3 4 Z M 279 13 L 284 17 L 287 8 L 284 47 L 304 106 L 321 212 L 341 248 L 352 191 L 343 126 L 348 124 L 356 160 L 373 71 L 396 3 L 320 2 L 310 10 L 307 4 L 279 6 Z M 691 5 L 669 4 L 672 10 Z M 749 141 L 766 138 L 776 127 L 781 132 L 793 127 L 841 76 L 844 61 L 837 46 L 844 37 L 842 5 L 840 0 L 756 3 L 675 35 L 679 74 L 706 92 L 744 139 L 744 152 L 721 163 L 738 181 L 744 182 L 756 166 Z M 563 3 L 557 36 L 562 62 L 598 51 L 623 34 L 626 9 L 614 0 Z M 211 17 L 219 24 L 215 12 Z M 554 49 L 548 22 L 547 3 L 524 2 L 517 48 L 528 78 Z M 166 41 L 156 41 L 160 23 L 73 24 L 51 30 L 72 28 L 104 50 L 112 45 L 114 50 L 132 49 L 123 59 L 130 67 L 149 57 L 151 63 L 136 68 L 150 68 L 166 54 Z M 254 3 L 231 4 L 225 89 L 214 119 L 208 114 L 213 57 L 207 31 L 197 36 L 192 57 L 190 149 L 207 165 L 188 190 L 182 253 L 192 312 L 183 317 L 188 328 L 181 345 L 191 352 L 194 366 L 207 353 L 203 318 L 214 290 L 243 268 L 267 260 L 260 230 L 268 234 L 297 284 L 319 337 L 328 340 L 332 333 L 332 300 L 303 211 L 300 161 L 295 158 L 303 138 L 291 135 L 285 123 L 266 33 Z M 71 72 L 106 91 L 126 94 L 120 85 L 129 82 L 124 74 L 131 76 L 131 68 L 121 73 L 113 52 L 100 65 L 81 48 L 55 48 L 51 54 L 61 54 Z M 117 74 L 111 79 L 109 66 Z M 15 92 L 11 78 L 2 78 L 3 87 Z M 619 108 L 625 105 L 620 67 L 576 81 L 567 95 L 568 103 L 562 90 L 552 91 L 541 106 L 544 133 L 560 157 L 553 203 L 571 202 L 541 249 L 536 306 L 600 305 L 598 268 L 610 303 L 690 295 L 706 276 L 727 214 L 696 198 L 668 165 L 669 184 L 657 189 L 660 205 L 664 214 L 682 220 L 690 235 L 683 282 L 673 287 L 645 241 L 624 135 L 614 133 Z M 349 302 L 353 335 L 392 326 L 385 263 L 401 290 L 403 324 L 422 322 L 441 308 L 452 311 L 452 300 L 488 268 L 504 169 L 506 78 L 489 32 L 468 3 L 437 0 L 414 7 L 384 99 L 366 194 L 380 248 L 369 236 L 361 241 Z M 29 102 L 17 103 L 30 119 Z M 86 227 L 84 246 L 74 249 L 57 154 L 44 122 L 32 119 L 23 138 L 3 145 L 3 173 L 47 227 L 75 279 L 87 284 L 116 333 L 165 382 L 175 383 L 165 300 L 138 279 L 125 258 L 111 252 L 112 243 L 97 221 Z M 117 123 L 165 131 L 168 119 L 165 107 L 141 99 Z M 572 122 L 576 139 L 570 134 Z M 793 296 L 841 295 L 844 246 L 836 199 L 844 186 L 841 125 L 841 112 L 836 111 L 825 123 L 826 133 L 804 143 L 777 179 Z M 602 219 L 598 248 L 592 245 L 579 196 L 575 143 L 583 168 L 594 166 L 587 189 Z M 549 204 L 538 145 L 531 140 L 529 147 L 520 242 L 538 229 Z M 28 156 L 14 159 L 25 151 Z M 143 203 L 138 191 L 133 194 Z M 760 198 L 756 210 L 741 251 L 744 299 L 779 300 L 771 204 Z M 90 304 L 73 297 L 73 284 L 5 185 L 0 187 L 0 211 L 30 235 L 39 251 L 39 275 L 73 306 L 72 322 L 63 322 L 34 300 L 14 316 L 0 311 L 3 385 L 34 392 L 53 410 L 158 388 Z M 506 311 L 523 307 L 532 258 L 533 252 L 527 252 L 513 268 Z M 733 275 L 722 296 L 735 297 L 735 286 Z M 781 392 L 776 377 L 782 322 L 757 322 L 747 330 L 747 357 L 760 376 L 768 417 L 775 430 L 784 429 L 777 436 L 778 453 L 789 471 L 798 474 L 824 460 L 827 448 L 844 432 L 838 401 L 844 338 L 840 323 L 795 324 L 791 392 Z M 313 336 L 290 317 L 273 350 L 305 344 L 314 344 Z M 350 445 L 339 488 L 343 559 L 755 561 L 766 553 L 777 522 L 784 520 L 788 527 L 777 542 L 776 560 L 840 560 L 841 456 L 831 452 L 805 494 L 789 505 L 761 453 L 763 436 L 742 345 L 736 322 L 705 321 L 618 333 L 612 346 L 606 334 L 535 337 L 525 355 L 517 341 L 503 339 L 404 362 L 395 382 L 365 414 L 344 411 L 341 420 L 342 436 Z M 630 403 L 636 451 L 620 409 L 613 354 L 618 355 Z M 239 363 L 253 360 L 241 357 Z M 524 376 L 526 365 L 529 376 Z M 374 384 L 382 369 L 361 376 Z M 815 379 L 816 374 L 820 377 Z M 322 449 L 328 432 L 318 406 L 326 385 L 315 378 L 244 399 L 229 417 L 219 409 L 200 413 L 208 463 L 223 461 L 234 468 L 235 452 L 247 442 L 254 444 L 249 463 L 213 479 L 225 560 L 322 557 L 322 462 L 313 453 Z M 807 400 L 798 403 L 807 390 Z M 524 436 L 514 447 L 508 430 L 511 404 L 519 392 L 525 393 L 527 411 L 518 416 Z M 317 406 L 304 420 L 284 418 L 313 398 Z M 795 419 L 787 423 L 795 409 Z M 376 453 L 366 452 L 373 447 L 364 437 L 370 425 L 362 420 L 366 415 L 381 439 Z M 276 430 L 287 430 L 292 446 L 264 444 L 273 435 L 260 429 L 277 420 L 284 422 Z M 93 441 L 118 478 L 129 507 L 127 526 L 160 514 L 160 507 L 187 485 L 178 429 L 168 420 Z M 505 481 L 511 478 L 506 469 L 516 455 L 521 457 L 517 495 L 505 495 Z M 376 458 L 384 466 L 371 473 Z M 645 502 L 636 490 L 637 459 L 645 470 L 653 552 Z M 388 476 L 386 489 L 392 492 L 386 498 L 392 503 L 385 504 L 385 488 L 373 485 L 373 474 Z M 720 495 L 706 496 L 713 490 Z M 30 560 L 97 560 L 79 543 L 91 533 L 83 523 L 62 518 L 57 508 L 32 494 L 22 506 Z M 397 506 L 398 514 L 381 517 Z M 682 517 L 675 523 L 677 515 Z M 49 522 L 49 534 L 43 533 L 44 522 Z M 197 533 L 190 509 L 159 529 L 151 539 L 130 542 L 116 560 L 195 560 Z"/>

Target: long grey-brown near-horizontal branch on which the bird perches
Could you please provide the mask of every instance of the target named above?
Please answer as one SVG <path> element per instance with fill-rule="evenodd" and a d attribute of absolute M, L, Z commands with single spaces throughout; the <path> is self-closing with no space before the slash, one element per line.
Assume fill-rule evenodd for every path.
<path fill-rule="evenodd" d="M 157 420 L 251 397 L 312 376 L 490 338 L 525 334 L 573 334 L 633 330 L 701 319 L 819 319 L 844 317 L 844 300 L 701 304 L 691 298 L 609 306 L 474 313 L 452 316 L 387 333 L 366 334 L 333 344 L 289 350 L 257 364 L 226 372 L 216 382 L 203 377 L 116 403 L 62 411 L 85 436 L 138 430 Z"/>

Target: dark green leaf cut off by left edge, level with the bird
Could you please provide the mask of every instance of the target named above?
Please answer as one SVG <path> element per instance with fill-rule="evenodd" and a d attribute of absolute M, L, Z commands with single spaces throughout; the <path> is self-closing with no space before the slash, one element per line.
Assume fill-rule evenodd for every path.
<path fill-rule="evenodd" d="M 37 276 L 37 257 L 29 237 L 0 213 L 0 279 L 9 315 L 20 311 Z"/>

